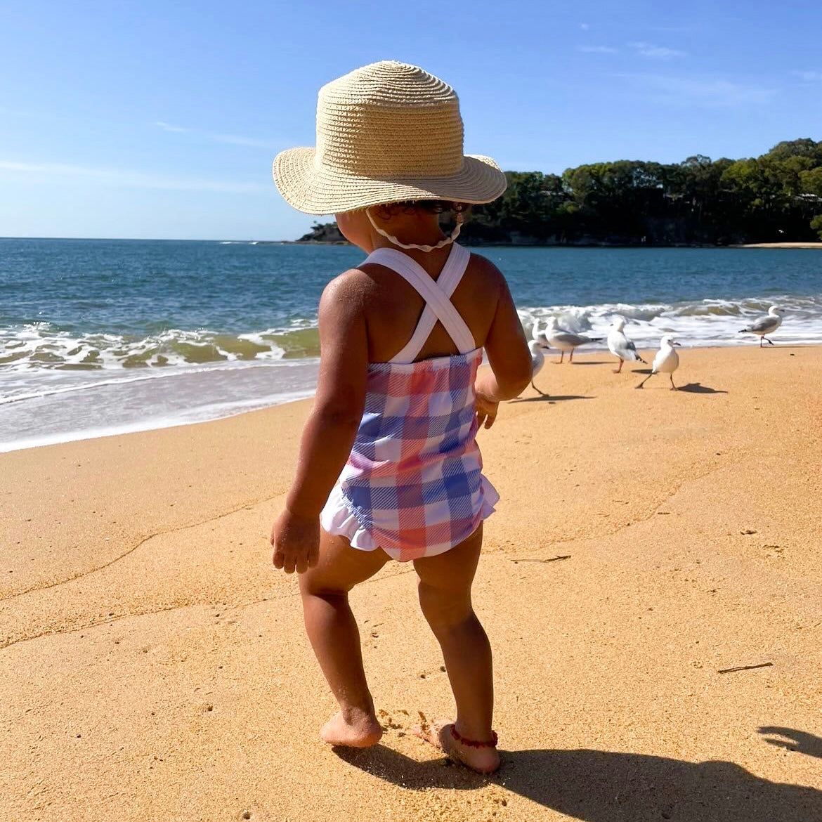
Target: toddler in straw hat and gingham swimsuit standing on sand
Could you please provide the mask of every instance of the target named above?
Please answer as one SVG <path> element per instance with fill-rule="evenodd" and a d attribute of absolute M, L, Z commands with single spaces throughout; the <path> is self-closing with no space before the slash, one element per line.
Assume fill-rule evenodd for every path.
<path fill-rule="evenodd" d="M 419 734 L 491 773 L 491 648 L 471 584 L 498 496 L 475 437 L 529 384 L 531 355 L 499 270 L 454 240 L 466 205 L 500 196 L 505 175 L 464 155 L 449 85 L 377 62 L 323 86 L 316 149 L 282 152 L 274 177 L 291 205 L 335 214 L 367 254 L 322 294 L 316 402 L 271 532 L 275 567 L 299 574 L 307 634 L 339 703 L 321 738 L 380 740 L 349 591 L 390 560 L 412 561 L 456 703 L 453 722 Z M 455 212 L 448 236 L 444 210 Z M 483 349 L 490 369 L 478 376 Z"/>

